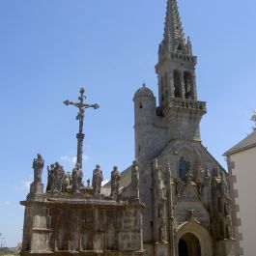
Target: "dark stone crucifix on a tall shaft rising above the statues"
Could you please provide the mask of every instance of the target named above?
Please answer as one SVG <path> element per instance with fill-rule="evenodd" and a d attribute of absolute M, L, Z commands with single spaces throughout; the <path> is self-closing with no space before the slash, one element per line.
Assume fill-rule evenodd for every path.
<path fill-rule="evenodd" d="M 72 102 L 70 100 L 65 100 L 63 103 L 65 105 L 74 105 L 78 108 L 79 112 L 76 116 L 76 120 L 79 121 L 79 132 L 76 134 L 77 138 L 77 156 L 76 156 L 76 163 L 80 164 L 80 168 L 82 169 L 83 164 L 83 139 L 84 139 L 84 133 L 83 133 L 83 122 L 84 122 L 84 111 L 86 108 L 93 107 L 94 109 L 99 108 L 100 106 L 98 104 L 85 104 L 84 100 L 86 97 L 84 96 L 84 88 L 80 89 L 80 96 L 78 97 L 78 102 Z"/>

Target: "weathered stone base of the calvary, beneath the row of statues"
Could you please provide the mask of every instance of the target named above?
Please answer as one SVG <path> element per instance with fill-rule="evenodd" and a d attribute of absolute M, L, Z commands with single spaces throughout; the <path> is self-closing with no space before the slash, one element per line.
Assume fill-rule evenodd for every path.
<path fill-rule="evenodd" d="M 41 191 L 43 200 L 34 196 L 21 202 L 25 206 L 21 255 L 143 255 L 144 205 L 139 201 L 116 201 L 110 194 L 96 197 L 90 186 L 79 193 L 73 189 L 43 193 L 43 186 L 38 186 L 33 183 L 30 194 Z"/>

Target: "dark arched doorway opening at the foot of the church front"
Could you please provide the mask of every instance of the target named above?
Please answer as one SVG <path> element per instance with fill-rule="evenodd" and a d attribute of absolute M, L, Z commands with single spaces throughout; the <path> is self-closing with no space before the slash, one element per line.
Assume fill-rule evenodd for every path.
<path fill-rule="evenodd" d="M 197 237 L 186 233 L 179 241 L 179 256 L 201 256 L 201 246 Z"/>

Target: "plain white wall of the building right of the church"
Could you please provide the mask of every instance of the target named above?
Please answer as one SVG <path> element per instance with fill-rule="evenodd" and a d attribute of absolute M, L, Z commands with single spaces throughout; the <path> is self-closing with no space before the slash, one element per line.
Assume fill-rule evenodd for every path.
<path fill-rule="evenodd" d="M 230 156 L 244 256 L 256 255 L 256 147 Z M 240 222 L 240 221 L 239 221 Z M 242 255 L 242 254 L 241 254 Z"/>

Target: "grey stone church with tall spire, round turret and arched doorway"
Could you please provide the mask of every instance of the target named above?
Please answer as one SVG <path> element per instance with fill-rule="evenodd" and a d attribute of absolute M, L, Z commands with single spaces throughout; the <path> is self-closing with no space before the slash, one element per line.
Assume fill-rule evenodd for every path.
<path fill-rule="evenodd" d="M 158 102 L 134 95 L 145 255 L 237 256 L 229 177 L 202 145 L 206 102 L 197 99 L 196 56 L 176 0 L 167 1 L 158 48 Z"/>

